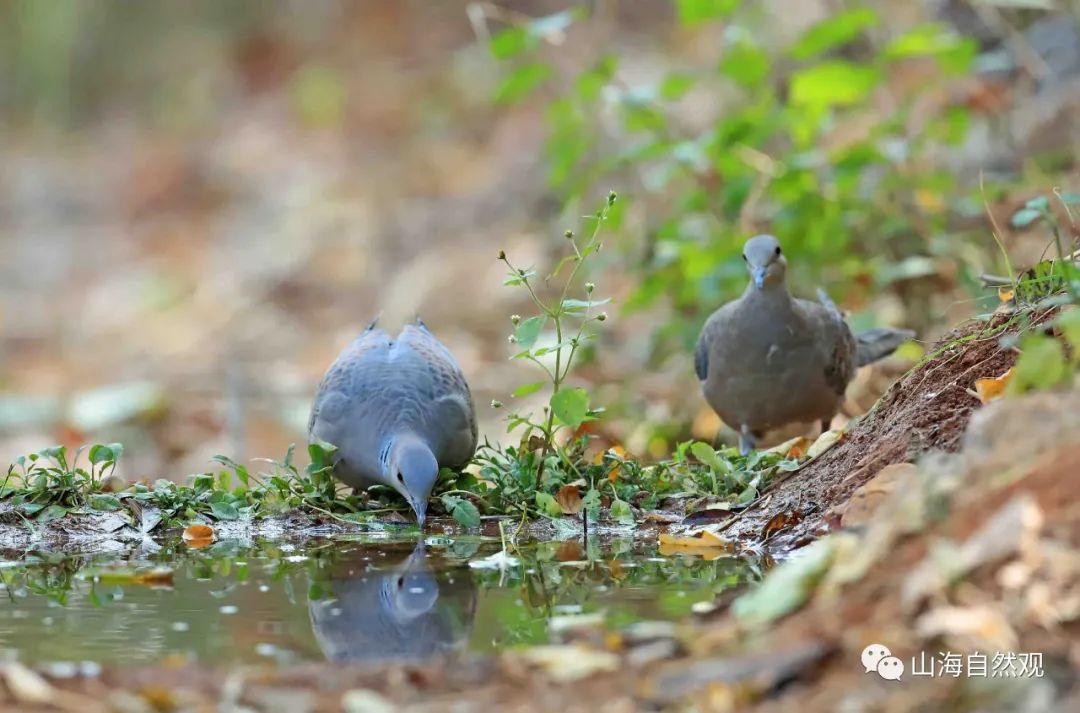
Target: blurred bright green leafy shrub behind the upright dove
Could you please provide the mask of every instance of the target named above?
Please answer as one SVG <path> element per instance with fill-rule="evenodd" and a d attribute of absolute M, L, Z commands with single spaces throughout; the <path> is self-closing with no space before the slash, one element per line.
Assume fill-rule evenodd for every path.
<path fill-rule="evenodd" d="M 635 186 L 646 212 L 645 244 L 620 247 L 644 256 L 634 259 L 638 286 L 625 307 L 670 308 L 654 359 L 685 354 L 704 314 L 739 291 L 739 246 L 750 231 L 785 241 L 799 264 L 793 279 L 804 286 L 849 290 L 926 274 L 928 255 L 959 257 L 964 239 L 985 240 L 949 219 L 977 204 L 976 187 L 958 184 L 936 160 L 964 139 L 968 109 L 916 113 L 920 94 L 937 93 L 971 67 L 971 39 L 936 24 L 897 31 L 874 8 L 855 4 L 789 46 L 770 48 L 756 31 L 761 14 L 753 3 L 675 6 L 683 25 L 723 42 L 716 66 L 635 83 L 619 76 L 618 56 L 600 54 L 577 76 L 548 81 L 545 94 L 549 181 L 568 210 L 602 181 L 618 181 Z M 516 63 L 548 62 L 542 43 L 516 49 Z M 941 71 L 896 90 L 890 78 L 912 59 Z M 672 106 L 691 91 L 724 97 L 694 131 Z M 596 121 L 612 112 L 613 124 Z"/>

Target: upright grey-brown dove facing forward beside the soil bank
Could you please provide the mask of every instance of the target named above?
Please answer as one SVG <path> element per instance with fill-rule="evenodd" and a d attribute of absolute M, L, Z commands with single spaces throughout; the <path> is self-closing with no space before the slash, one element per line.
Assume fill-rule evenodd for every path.
<path fill-rule="evenodd" d="M 787 260 L 772 236 L 746 241 L 743 260 L 751 282 L 705 322 L 693 361 L 705 401 L 739 429 L 745 455 L 766 431 L 787 423 L 828 429 L 855 369 L 915 334 L 876 328 L 853 336 L 824 292 L 820 304 L 792 297 Z"/>

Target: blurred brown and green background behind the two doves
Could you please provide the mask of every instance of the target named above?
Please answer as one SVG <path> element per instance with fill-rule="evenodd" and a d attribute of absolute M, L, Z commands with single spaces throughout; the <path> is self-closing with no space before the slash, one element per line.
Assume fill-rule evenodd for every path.
<path fill-rule="evenodd" d="M 688 354 L 746 237 L 856 327 L 927 339 L 993 308 L 991 218 L 1038 261 L 1052 237 L 1009 217 L 1080 184 L 1078 4 L 4 3 L 0 454 L 123 441 L 127 475 L 176 477 L 280 453 L 380 311 L 423 314 L 499 439 L 486 404 L 530 379 L 496 253 L 550 265 L 609 189 L 615 305 L 577 384 L 632 453 L 710 438 Z"/>

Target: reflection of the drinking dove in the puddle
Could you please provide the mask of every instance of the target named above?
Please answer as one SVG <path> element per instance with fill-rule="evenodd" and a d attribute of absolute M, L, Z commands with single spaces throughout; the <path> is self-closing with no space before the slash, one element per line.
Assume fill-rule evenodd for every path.
<path fill-rule="evenodd" d="M 380 543 L 335 563 L 328 596 L 308 604 L 328 660 L 422 661 L 464 647 L 476 615 L 469 569 L 437 566 L 422 541 L 404 556 L 407 547 Z"/>

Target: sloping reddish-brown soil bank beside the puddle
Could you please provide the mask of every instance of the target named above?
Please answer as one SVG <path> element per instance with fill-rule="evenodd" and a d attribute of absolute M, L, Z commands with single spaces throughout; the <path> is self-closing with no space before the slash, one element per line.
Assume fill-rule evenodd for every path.
<path fill-rule="evenodd" d="M 1030 323 L 1045 322 L 1052 314 L 1036 313 Z M 727 528 L 726 537 L 759 540 L 767 523 L 785 516 L 793 526 L 770 536 L 770 544 L 806 544 L 827 532 L 833 510 L 886 466 L 914 461 L 929 452 L 956 452 L 980 406 L 971 392 L 974 381 L 1000 376 L 1013 365 L 1015 350 L 1000 341 L 1016 334 L 1020 322 L 1000 314 L 942 337 L 838 444 L 774 486 Z"/>

